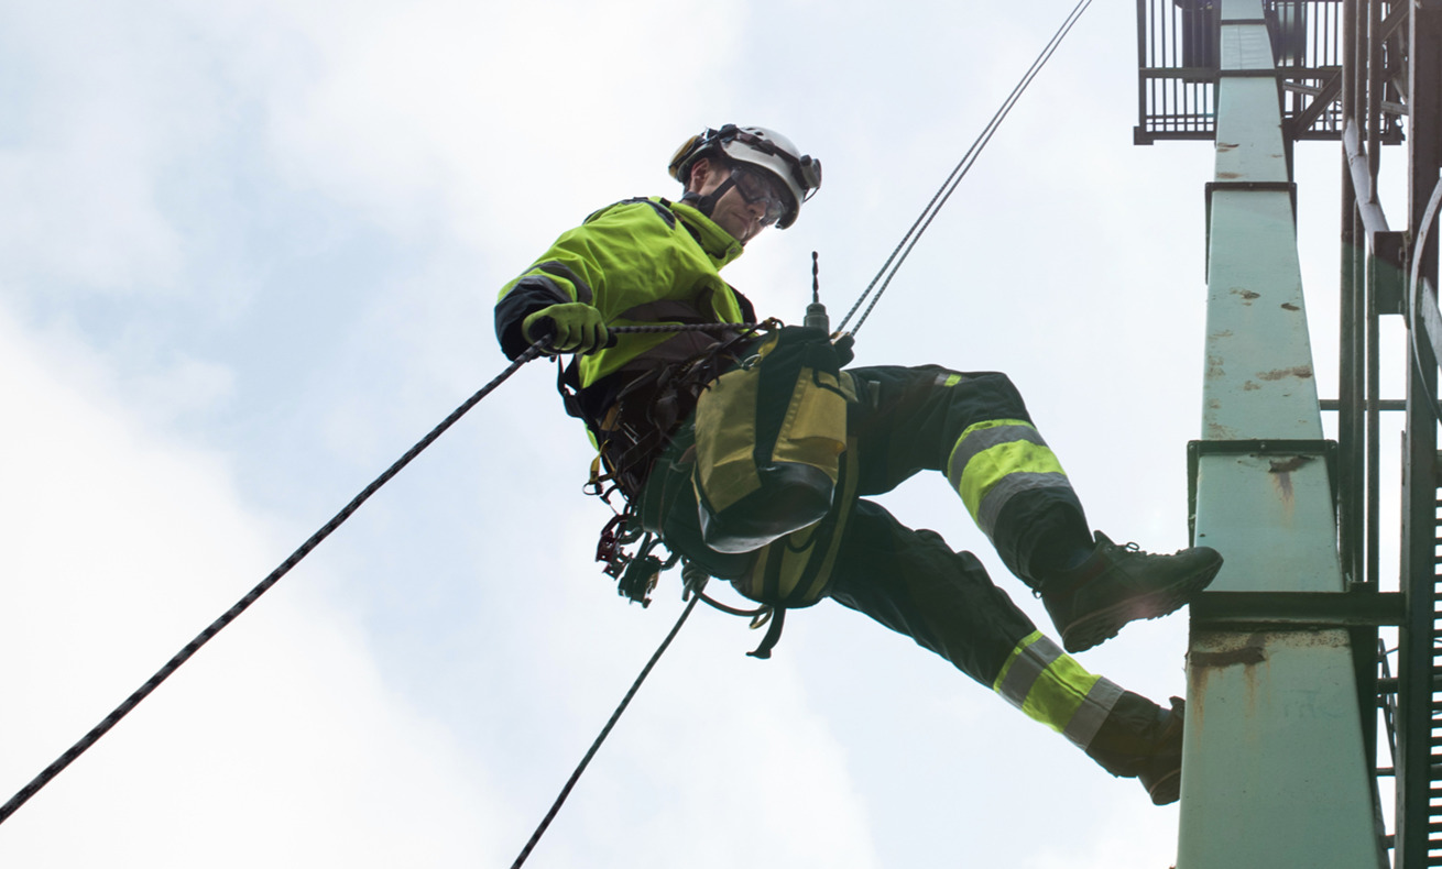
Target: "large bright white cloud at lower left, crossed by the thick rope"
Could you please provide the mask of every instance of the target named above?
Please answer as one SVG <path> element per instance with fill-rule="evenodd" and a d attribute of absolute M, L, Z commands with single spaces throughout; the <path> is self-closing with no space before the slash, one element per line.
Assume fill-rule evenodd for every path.
<path fill-rule="evenodd" d="M 137 424 L 97 360 L 0 320 L 0 780 L 19 790 L 277 559 L 225 461 Z M 0 862 L 443 865 L 495 847 L 485 775 L 297 571 L 0 829 Z M 218 843 L 225 843 L 224 847 Z"/>

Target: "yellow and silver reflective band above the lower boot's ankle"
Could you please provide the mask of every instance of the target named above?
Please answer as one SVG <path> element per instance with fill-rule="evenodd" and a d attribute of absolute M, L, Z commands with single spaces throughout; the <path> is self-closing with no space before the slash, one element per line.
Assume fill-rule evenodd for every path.
<path fill-rule="evenodd" d="M 1080 748 L 1092 744 L 1122 696 L 1120 686 L 1087 673 L 1041 631 L 1017 643 L 992 689 Z"/>

